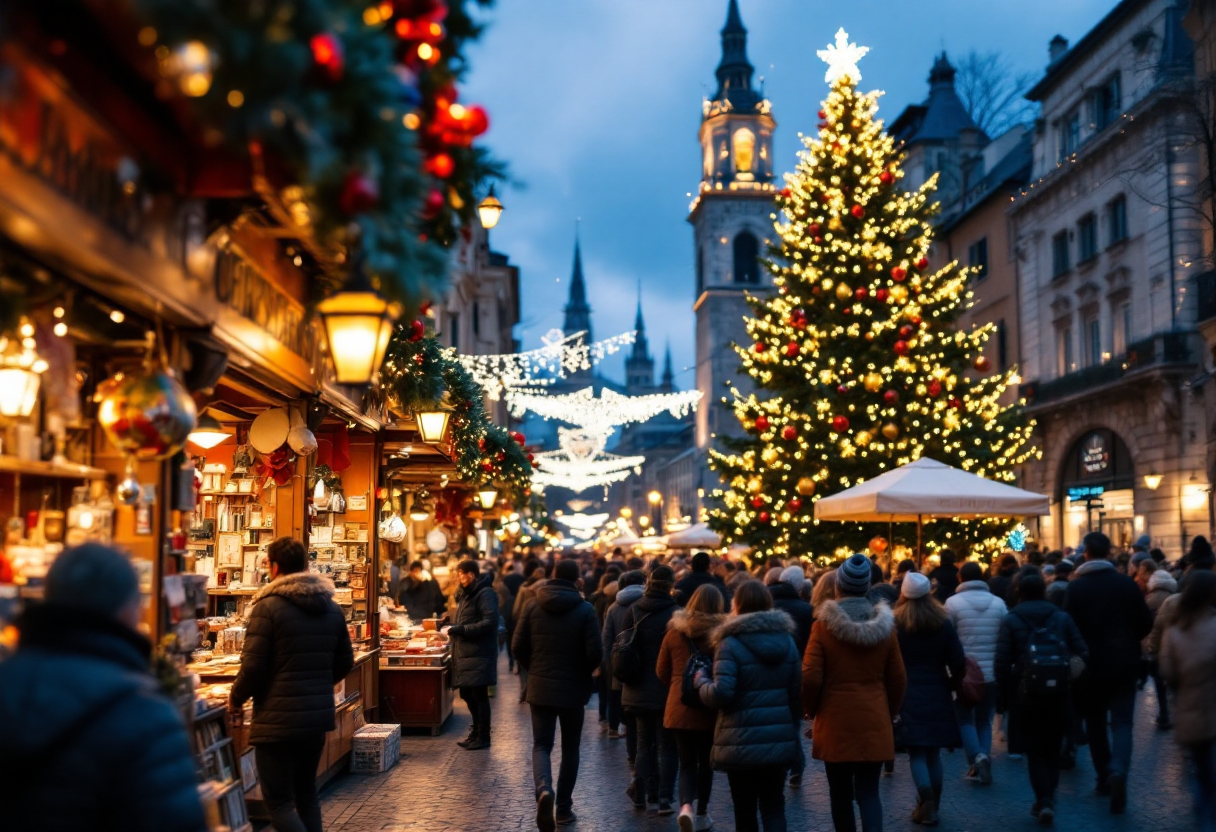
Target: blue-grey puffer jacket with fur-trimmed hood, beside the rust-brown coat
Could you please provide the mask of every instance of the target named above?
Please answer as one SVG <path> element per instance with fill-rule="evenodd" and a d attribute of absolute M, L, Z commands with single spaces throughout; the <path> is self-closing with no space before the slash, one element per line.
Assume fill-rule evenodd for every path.
<path fill-rule="evenodd" d="M 714 769 L 793 765 L 801 759 L 801 681 L 794 622 L 779 609 L 733 615 L 714 630 L 714 679 L 700 698 L 719 710 Z"/>

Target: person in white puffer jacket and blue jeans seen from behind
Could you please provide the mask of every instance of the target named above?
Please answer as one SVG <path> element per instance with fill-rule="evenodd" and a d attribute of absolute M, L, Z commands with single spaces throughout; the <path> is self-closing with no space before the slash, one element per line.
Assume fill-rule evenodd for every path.
<path fill-rule="evenodd" d="M 968 561 L 958 570 L 962 583 L 946 601 L 950 623 L 958 633 L 967 658 L 984 673 L 984 697 L 974 705 L 958 703 L 958 732 L 962 735 L 967 761 L 975 769 L 975 777 L 984 785 L 992 782 L 992 712 L 996 707 L 996 641 L 1001 623 L 1008 612 L 1004 601 L 989 591 L 984 569 Z"/>

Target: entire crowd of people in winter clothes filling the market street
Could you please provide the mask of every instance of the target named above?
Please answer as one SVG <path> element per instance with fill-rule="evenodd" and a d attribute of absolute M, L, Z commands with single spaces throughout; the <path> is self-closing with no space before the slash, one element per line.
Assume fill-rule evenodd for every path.
<path fill-rule="evenodd" d="M 230 704 L 238 714 L 254 702 L 249 738 L 274 828 L 320 832 L 314 775 L 351 645 L 304 547 L 282 538 L 268 555 L 272 580 L 253 605 Z M 1156 725 L 1189 760 L 1197 827 L 1216 830 L 1216 552 L 1205 539 L 1172 563 L 1147 538 L 1116 555 L 1100 533 L 1076 552 L 1006 553 L 991 574 L 951 552 L 936 560 L 888 573 L 857 553 L 812 574 L 704 552 L 465 558 L 450 595 L 424 563 L 396 575 L 395 591 L 421 617 L 447 619 L 452 678 L 472 715 L 460 744 L 471 752 L 491 746 L 507 650 L 531 716 L 541 832 L 575 820 L 592 696 L 601 733 L 624 740 L 626 799 L 675 815 L 680 832 L 713 828 L 716 771 L 738 832 L 783 832 L 786 787 L 801 783 L 807 747 L 823 763 L 835 830 L 858 819 L 865 832 L 882 828 L 879 782 L 897 752 L 916 786 L 912 821 L 935 825 L 944 749 L 964 751 L 978 786 L 993 781 L 996 714 L 1008 754 L 1025 758 L 1040 823 L 1055 821 L 1059 772 L 1082 744 L 1097 793 L 1121 814 L 1136 693 L 1150 680 Z M 81 546 L 51 568 L 0 673 L 0 805 L 15 828 L 92 828 L 111 816 L 131 830 L 203 827 L 190 743 L 148 671 L 139 617 L 137 578 L 120 553 Z"/>

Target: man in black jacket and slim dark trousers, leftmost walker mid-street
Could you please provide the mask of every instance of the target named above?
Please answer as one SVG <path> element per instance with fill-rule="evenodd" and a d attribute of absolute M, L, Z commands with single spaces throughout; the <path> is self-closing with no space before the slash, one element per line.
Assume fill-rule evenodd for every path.
<path fill-rule="evenodd" d="M 591 698 L 592 674 L 603 647 L 595 608 L 579 592 L 579 564 L 561 561 L 553 578 L 536 590 L 535 602 L 516 624 L 516 660 L 528 671 L 525 697 L 533 721 L 533 780 L 536 783 L 536 827 L 553 832 L 573 823 L 574 782 L 579 777 L 579 741 L 584 708 Z M 553 737 L 562 725 L 562 768 L 557 777 L 554 816 Z"/>

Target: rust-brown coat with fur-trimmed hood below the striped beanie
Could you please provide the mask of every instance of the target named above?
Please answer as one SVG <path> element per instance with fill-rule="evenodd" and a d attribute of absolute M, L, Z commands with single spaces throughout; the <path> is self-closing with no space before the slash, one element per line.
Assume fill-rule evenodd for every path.
<path fill-rule="evenodd" d="M 815 608 L 803 657 L 803 708 L 815 719 L 811 755 L 827 763 L 895 759 L 891 719 L 907 676 L 890 607 L 862 597 Z"/>

